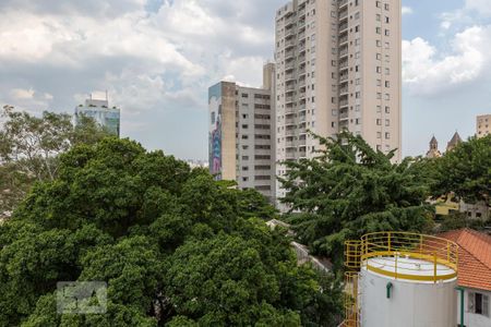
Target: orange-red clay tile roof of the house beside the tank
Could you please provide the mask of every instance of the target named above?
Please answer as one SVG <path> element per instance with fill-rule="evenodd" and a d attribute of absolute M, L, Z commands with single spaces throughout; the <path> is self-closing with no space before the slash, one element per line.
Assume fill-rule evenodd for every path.
<path fill-rule="evenodd" d="M 458 284 L 491 291 L 491 237 L 471 229 L 439 235 L 458 244 Z"/>

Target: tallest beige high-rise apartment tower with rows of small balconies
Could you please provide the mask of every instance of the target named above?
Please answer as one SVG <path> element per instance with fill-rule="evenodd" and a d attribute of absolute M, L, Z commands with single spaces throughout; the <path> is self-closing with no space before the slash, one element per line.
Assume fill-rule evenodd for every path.
<path fill-rule="evenodd" d="M 277 162 L 315 156 L 309 130 L 345 129 L 400 160 L 400 0 L 292 0 L 276 12 Z"/>

